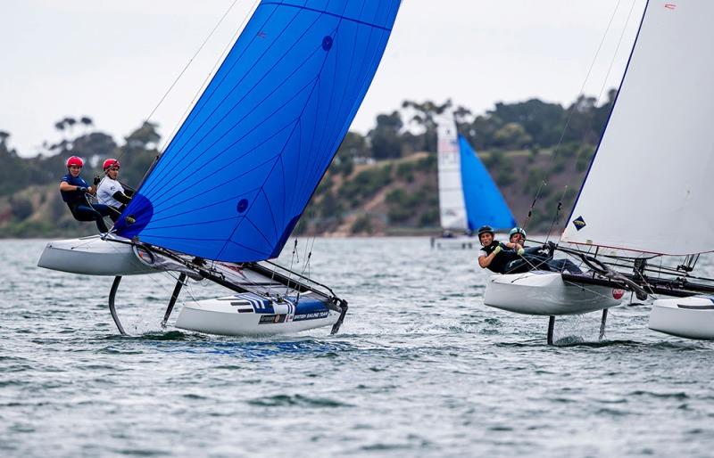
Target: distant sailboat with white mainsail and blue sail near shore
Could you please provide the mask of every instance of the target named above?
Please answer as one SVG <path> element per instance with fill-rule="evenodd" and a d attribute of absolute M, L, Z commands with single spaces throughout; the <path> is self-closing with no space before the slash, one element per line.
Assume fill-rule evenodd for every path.
<path fill-rule="evenodd" d="M 440 246 L 479 246 L 471 236 L 481 225 L 510 229 L 516 225 L 511 209 L 478 159 L 469 141 L 456 131 L 453 119 L 437 127 L 439 218 L 443 237 L 432 239 Z M 464 235 L 466 235 L 464 237 Z"/>

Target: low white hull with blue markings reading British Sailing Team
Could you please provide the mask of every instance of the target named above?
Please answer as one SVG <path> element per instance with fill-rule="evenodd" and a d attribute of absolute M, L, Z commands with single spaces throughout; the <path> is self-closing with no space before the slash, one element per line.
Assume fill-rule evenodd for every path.
<path fill-rule="evenodd" d="M 187 303 L 175 326 L 187 331 L 227 336 L 265 336 L 332 326 L 340 314 L 316 304 L 272 304 L 241 300 L 241 295 Z M 310 299 L 307 299 L 310 302 Z M 302 307 L 307 305 L 308 307 Z"/>

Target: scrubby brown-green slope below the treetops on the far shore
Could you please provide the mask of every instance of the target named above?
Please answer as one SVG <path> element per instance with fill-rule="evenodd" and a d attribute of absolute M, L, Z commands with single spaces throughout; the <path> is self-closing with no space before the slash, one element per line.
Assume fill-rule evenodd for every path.
<path fill-rule="evenodd" d="M 527 217 L 544 178 L 547 185 L 541 188 L 528 227 L 547 231 L 562 197 L 560 214 L 569 215 L 592 148 L 563 151 L 556 157 L 550 150 L 479 154 L 520 224 Z M 32 185 L 0 197 L 0 236 L 69 237 L 94 233 L 94 224 L 79 223 L 71 217 L 57 186 Z M 327 236 L 439 233 L 437 190 L 434 153 L 417 152 L 346 170 L 333 164 L 313 195 L 296 233 Z"/>

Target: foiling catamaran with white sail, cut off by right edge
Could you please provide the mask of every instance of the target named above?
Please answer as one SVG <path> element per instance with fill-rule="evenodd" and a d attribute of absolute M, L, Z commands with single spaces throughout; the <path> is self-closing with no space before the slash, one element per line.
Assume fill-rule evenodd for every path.
<path fill-rule="evenodd" d="M 714 339 L 714 280 L 693 274 L 714 251 L 714 2 L 645 6 L 618 97 L 559 249 L 589 274 L 494 275 L 484 302 L 569 315 L 619 304 L 623 290 L 657 299 L 650 327 Z M 678 257 L 679 260 L 677 260 Z M 628 295 L 629 296 L 629 295 Z"/>

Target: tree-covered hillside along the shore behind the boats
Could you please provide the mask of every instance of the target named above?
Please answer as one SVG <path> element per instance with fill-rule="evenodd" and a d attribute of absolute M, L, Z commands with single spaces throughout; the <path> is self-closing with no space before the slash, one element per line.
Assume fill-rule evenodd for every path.
<path fill-rule="evenodd" d="M 562 222 L 554 218 L 569 214 L 614 97 L 611 91 L 607 102 L 597 104 L 581 96 L 568 107 L 538 99 L 498 102 L 482 114 L 451 101 L 405 101 L 398 110 L 378 115 L 366 135 L 345 136 L 295 231 L 438 233 L 436 119 L 445 110 L 452 111 L 519 222 L 533 205 L 528 227 L 557 229 Z M 93 233 L 94 225 L 75 221 L 60 198 L 57 185 L 66 173 L 66 158 L 85 159 L 85 179 L 99 175 L 104 159 L 119 158 L 121 180 L 137 186 L 159 153 L 161 138 L 150 122 L 120 143 L 97 131 L 86 116 L 61 119 L 54 127 L 62 140 L 43 143 L 43 151 L 32 158 L 12 149 L 11 134 L 0 131 L 5 164 L 0 168 L 0 237 Z"/>

